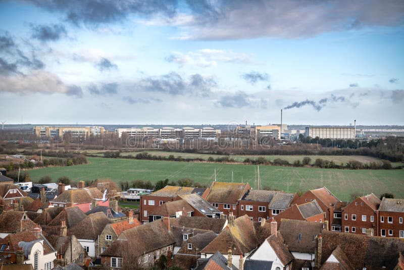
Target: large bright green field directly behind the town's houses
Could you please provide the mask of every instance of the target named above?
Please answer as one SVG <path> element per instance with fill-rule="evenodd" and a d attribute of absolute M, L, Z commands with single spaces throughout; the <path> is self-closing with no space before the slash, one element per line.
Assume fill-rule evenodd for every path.
<path fill-rule="evenodd" d="M 200 163 L 151 161 L 133 159 L 88 158 L 89 164 L 48 167 L 27 171 L 31 179 L 38 181 L 49 175 L 56 181 L 58 177 L 68 176 L 73 181 L 110 178 L 114 181 L 149 180 L 153 183 L 169 178 L 170 181 L 188 177 L 201 184 L 211 183 L 214 170 L 218 181 L 230 182 L 233 171 L 234 181 L 248 182 L 255 188 L 257 166 L 243 164 Z M 404 170 L 339 170 L 304 167 L 260 166 L 261 187 L 289 191 L 306 191 L 326 186 L 341 200 L 348 200 L 354 192 L 375 194 L 393 193 L 404 198 Z"/>

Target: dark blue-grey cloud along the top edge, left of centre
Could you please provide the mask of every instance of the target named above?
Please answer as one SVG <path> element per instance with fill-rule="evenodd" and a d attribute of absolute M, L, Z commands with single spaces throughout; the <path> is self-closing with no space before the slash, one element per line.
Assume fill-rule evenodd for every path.
<path fill-rule="evenodd" d="M 176 13 L 175 0 L 25 0 L 41 8 L 61 12 L 65 20 L 79 26 L 113 23 L 129 15 L 159 14 L 171 17 Z"/>

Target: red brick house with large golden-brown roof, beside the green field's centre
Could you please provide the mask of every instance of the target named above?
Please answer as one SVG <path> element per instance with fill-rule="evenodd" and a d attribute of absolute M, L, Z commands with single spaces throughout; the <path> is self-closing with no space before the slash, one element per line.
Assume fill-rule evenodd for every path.
<path fill-rule="evenodd" d="M 213 182 L 206 200 L 224 215 L 233 215 L 237 218 L 239 200 L 247 190 L 251 189 L 248 183 Z"/>

